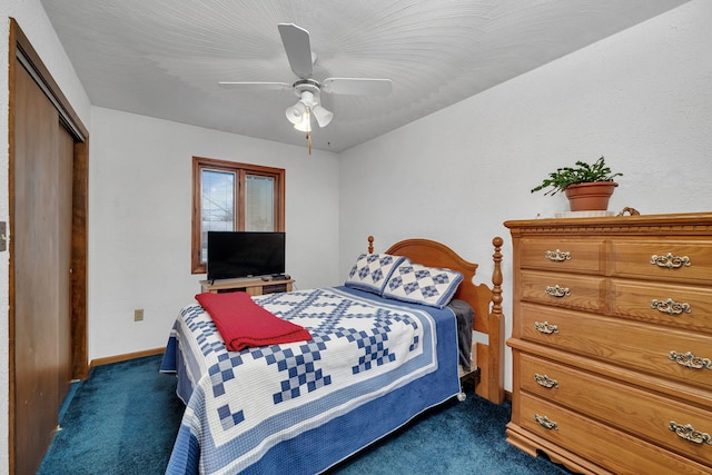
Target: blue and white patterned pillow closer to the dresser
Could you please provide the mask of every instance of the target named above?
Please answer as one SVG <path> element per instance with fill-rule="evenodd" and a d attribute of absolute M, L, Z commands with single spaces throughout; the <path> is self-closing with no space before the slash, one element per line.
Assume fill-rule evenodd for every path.
<path fill-rule="evenodd" d="M 452 300 L 463 275 L 451 269 L 403 263 L 390 275 L 383 296 L 443 308 Z"/>

